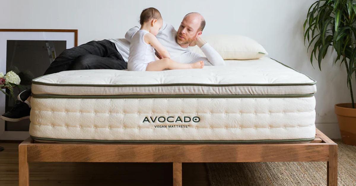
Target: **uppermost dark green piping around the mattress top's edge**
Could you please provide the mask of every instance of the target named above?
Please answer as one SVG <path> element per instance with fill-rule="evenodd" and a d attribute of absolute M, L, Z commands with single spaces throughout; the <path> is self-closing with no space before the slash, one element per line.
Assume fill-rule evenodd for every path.
<path fill-rule="evenodd" d="M 272 58 L 271 58 L 272 59 Z M 285 67 L 288 67 L 298 73 L 301 73 L 299 72 L 298 70 L 295 70 L 293 69 L 292 67 L 289 67 L 288 65 L 285 65 L 275 59 L 273 59 L 274 61 L 284 65 Z M 275 84 L 257 84 L 257 83 L 241 83 L 241 84 L 205 84 L 205 83 L 169 83 L 169 84 L 124 84 L 124 85 L 117 85 L 117 84 L 60 84 L 60 83 L 44 83 L 44 82 L 39 82 L 39 81 L 36 81 L 37 79 L 40 79 L 42 78 L 43 76 L 46 76 L 46 75 L 43 75 L 43 76 L 40 76 L 38 78 L 35 78 L 32 80 L 32 84 L 35 84 L 35 85 L 48 85 L 48 86 L 87 86 L 87 87 L 125 87 L 125 86 L 290 86 L 290 85 L 294 85 L 294 86 L 304 86 L 304 85 L 315 85 L 316 84 L 316 81 L 312 78 L 310 78 L 310 76 L 304 74 L 304 73 L 301 73 L 305 76 L 307 76 L 310 80 L 312 80 L 313 82 L 312 83 L 275 83 Z"/>

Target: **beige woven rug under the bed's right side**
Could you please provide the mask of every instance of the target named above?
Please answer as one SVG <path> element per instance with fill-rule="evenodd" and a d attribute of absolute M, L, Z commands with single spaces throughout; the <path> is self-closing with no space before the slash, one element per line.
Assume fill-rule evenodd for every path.
<path fill-rule="evenodd" d="M 338 183 L 356 185 L 356 146 L 338 144 Z M 326 162 L 207 163 L 211 186 L 326 185 Z"/>

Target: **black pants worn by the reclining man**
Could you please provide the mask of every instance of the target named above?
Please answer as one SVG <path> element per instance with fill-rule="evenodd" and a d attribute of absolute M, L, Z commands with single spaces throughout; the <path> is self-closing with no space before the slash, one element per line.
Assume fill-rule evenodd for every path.
<path fill-rule="evenodd" d="M 43 75 L 65 70 L 127 69 L 127 63 L 109 40 L 90 41 L 78 47 L 64 50 L 49 65 Z M 30 91 L 28 89 L 26 91 Z"/>

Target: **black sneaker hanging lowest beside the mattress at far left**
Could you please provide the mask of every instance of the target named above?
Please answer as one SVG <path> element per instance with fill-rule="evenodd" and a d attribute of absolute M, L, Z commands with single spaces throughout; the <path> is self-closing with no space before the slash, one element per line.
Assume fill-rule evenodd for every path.
<path fill-rule="evenodd" d="M 17 100 L 14 108 L 1 115 L 0 118 L 5 121 L 17 122 L 22 119 L 30 118 L 30 111 L 31 108 L 26 103 Z"/>

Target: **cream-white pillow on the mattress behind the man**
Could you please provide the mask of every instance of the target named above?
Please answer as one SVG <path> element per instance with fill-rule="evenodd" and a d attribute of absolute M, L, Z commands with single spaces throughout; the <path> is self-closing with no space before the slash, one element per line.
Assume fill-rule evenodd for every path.
<path fill-rule="evenodd" d="M 260 59 L 267 55 L 261 44 L 246 36 L 240 35 L 210 35 L 202 36 L 223 59 Z M 193 52 L 203 56 L 198 46 L 190 47 Z"/>

